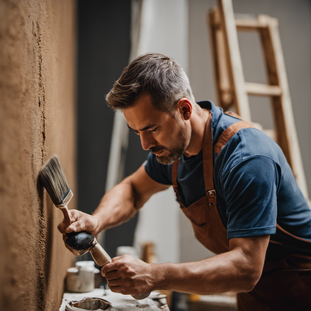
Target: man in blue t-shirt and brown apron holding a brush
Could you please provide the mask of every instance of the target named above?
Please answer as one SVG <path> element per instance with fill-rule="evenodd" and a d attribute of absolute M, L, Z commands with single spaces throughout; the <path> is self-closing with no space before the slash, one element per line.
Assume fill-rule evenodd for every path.
<path fill-rule="evenodd" d="M 218 254 L 178 264 L 116 257 L 102 268 L 110 289 L 232 291 L 240 310 L 309 310 L 311 210 L 279 146 L 213 103 L 196 103 L 183 69 L 162 54 L 135 59 L 106 100 L 151 153 L 104 195 L 93 216 L 70 211 L 72 225 L 58 226 L 64 240 L 65 233 L 96 235 L 128 220 L 173 184 L 197 239 Z"/>

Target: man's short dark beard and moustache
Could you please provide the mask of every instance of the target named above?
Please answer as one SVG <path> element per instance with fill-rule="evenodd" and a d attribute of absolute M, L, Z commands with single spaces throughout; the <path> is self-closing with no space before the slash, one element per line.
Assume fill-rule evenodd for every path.
<path fill-rule="evenodd" d="M 157 156 L 156 159 L 159 163 L 164 165 L 170 165 L 176 162 L 181 158 L 181 156 L 185 153 L 191 138 L 191 131 L 187 128 L 180 129 L 175 137 L 172 138 L 174 145 L 170 148 L 165 146 L 154 146 L 149 150 L 152 153 L 160 152 L 162 150 L 169 151 L 169 155 L 167 156 Z"/>

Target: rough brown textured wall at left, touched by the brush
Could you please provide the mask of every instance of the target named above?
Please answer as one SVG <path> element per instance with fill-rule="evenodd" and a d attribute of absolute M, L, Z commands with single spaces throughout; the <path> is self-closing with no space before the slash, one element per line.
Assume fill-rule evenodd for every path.
<path fill-rule="evenodd" d="M 76 193 L 74 75 L 74 0 L 1 0 L 1 310 L 57 310 L 61 302 L 73 255 L 38 173 L 58 154 Z"/>

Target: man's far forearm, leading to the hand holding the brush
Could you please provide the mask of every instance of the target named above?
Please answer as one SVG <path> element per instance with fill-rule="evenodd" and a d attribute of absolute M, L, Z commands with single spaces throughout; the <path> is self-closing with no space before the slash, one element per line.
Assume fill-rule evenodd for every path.
<path fill-rule="evenodd" d="M 93 213 L 98 220 L 97 233 L 127 221 L 136 212 L 133 187 L 130 182 L 123 181 L 104 195 Z"/>

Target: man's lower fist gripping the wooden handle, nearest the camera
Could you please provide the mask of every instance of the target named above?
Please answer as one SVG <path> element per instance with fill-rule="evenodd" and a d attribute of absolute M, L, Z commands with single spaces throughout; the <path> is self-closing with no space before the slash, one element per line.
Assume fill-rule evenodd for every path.
<path fill-rule="evenodd" d="M 123 295 L 137 295 L 153 290 L 155 276 L 152 264 L 123 255 L 112 258 L 111 263 L 101 268 L 111 291 Z"/>

